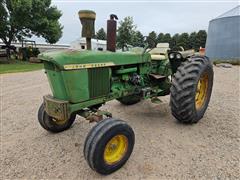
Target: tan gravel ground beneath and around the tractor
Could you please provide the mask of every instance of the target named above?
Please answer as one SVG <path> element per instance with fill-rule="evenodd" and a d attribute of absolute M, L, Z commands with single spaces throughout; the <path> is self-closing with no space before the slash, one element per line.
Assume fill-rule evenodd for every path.
<path fill-rule="evenodd" d="M 214 68 L 212 98 L 204 118 L 182 125 L 163 103 L 107 103 L 134 129 L 136 144 L 117 172 L 101 176 L 83 157 L 94 125 L 78 117 L 73 127 L 52 134 L 40 127 L 37 110 L 50 93 L 43 71 L 1 75 L 0 179 L 239 179 L 240 67 Z"/>

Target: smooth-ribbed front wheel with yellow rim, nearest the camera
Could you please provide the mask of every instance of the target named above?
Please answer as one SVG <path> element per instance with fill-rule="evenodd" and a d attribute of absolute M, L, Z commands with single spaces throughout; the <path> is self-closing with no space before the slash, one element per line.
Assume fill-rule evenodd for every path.
<path fill-rule="evenodd" d="M 126 122 L 105 119 L 89 132 L 84 144 L 84 157 L 93 170 L 110 174 L 126 163 L 134 142 L 134 132 Z"/>

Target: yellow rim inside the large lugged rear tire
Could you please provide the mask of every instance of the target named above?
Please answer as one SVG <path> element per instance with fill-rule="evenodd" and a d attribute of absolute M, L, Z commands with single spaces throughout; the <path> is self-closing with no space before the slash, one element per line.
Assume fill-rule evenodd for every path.
<path fill-rule="evenodd" d="M 206 101 L 207 89 L 208 75 L 205 73 L 201 75 L 200 79 L 198 80 L 197 91 L 195 95 L 195 106 L 197 110 L 201 109 Z"/>

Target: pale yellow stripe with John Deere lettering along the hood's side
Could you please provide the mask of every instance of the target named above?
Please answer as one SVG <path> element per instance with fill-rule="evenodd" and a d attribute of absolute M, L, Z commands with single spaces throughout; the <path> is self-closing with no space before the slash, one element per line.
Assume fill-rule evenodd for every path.
<path fill-rule="evenodd" d="M 65 70 L 74 70 L 74 69 L 88 69 L 88 68 L 98 68 L 106 66 L 114 66 L 113 62 L 106 63 L 90 63 L 90 64 L 66 64 L 64 65 Z"/>

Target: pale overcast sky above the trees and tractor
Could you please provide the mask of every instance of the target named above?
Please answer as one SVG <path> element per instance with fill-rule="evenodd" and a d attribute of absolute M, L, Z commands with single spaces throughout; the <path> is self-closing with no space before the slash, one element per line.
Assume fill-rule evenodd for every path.
<path fill-rule="evenodd" d="M 100 1 L 100 0 L 99 0 Z M 154 30 L 157 33 L 182 33 L 207 30 L 211 19 L 237 6 L 239 1 L 218 0 L 207 1 L 71 1 L 55 0 L 52 5 L 57 6 L 63 13 L 60 22 L 64 26 L 63 36 L 58 43 L 70 43 L 80 37 L 81 26 L 78 11 L 81 9 L 94 10 L 97 14 L 96 30 L 106 29 L 106 20 L 110 14 L 116 14 L 119 20 L 132 16 L 137 29 L 144 35 Z M 43 41 L 37 39 L 38 42 Z"/>

